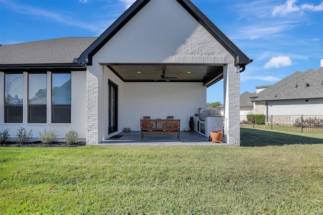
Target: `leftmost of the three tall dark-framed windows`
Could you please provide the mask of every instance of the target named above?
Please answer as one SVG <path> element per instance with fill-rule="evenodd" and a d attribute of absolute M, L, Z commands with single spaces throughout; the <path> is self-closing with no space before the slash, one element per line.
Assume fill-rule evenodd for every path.
<path fill-rule="evenodd" d="M 22 123 L 23 74 L 5 74 L 5 122 Z"/>

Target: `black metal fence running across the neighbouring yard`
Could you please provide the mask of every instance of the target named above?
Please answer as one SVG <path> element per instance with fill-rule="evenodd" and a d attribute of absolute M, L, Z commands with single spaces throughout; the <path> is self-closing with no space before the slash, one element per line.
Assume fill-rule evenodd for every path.
<path fill-rule="evenodd" d="M 241 128 L 323 134 L 323 115 L 241 115 Z"/>

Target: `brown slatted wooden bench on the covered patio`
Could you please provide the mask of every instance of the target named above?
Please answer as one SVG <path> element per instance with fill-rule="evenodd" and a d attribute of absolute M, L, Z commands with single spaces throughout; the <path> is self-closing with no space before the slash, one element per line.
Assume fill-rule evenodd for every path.
<path fill-rule="evenodd" d="M 144 134 L 177 134 L 180 137 L 181 120 L 140 120 L 140 139 Z"/>

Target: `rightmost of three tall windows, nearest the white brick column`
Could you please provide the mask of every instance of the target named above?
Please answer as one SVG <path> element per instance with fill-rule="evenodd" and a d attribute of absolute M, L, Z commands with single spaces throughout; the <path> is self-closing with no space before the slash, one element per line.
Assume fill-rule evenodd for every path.
<path fill-rule="evenodd" d="M 71 73 L 51 75 L 52 122 L 71 123 Z"/>

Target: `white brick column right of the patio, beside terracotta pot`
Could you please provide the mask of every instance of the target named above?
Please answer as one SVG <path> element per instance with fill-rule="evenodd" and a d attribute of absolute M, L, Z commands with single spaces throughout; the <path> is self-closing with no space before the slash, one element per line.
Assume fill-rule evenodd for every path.
<path fill-rule="evenodd" d="M 240 145 L 240 72 L 229 63 L 224 67 L 225 142 Z"/>

